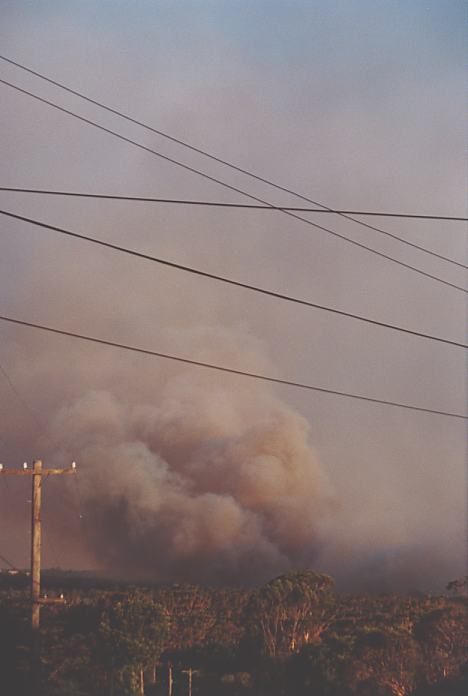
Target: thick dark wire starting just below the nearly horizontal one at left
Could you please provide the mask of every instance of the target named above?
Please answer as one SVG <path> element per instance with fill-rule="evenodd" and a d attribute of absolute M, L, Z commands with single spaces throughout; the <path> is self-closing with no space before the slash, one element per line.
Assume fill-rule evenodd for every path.
<path fill-rule="evenodd" d="M 397 326 L 396 324 L 388 324 L 387 322 L 378 321 L 377 319 L 370 319 L 368 317 L 361 316 L 360 314 L 354 314 L 352 312 L 345 312 L 342 309 L 336 309 L 334 307 L 327 307 L 326 305 L 321 305 L 316 302 L 310 302 L 309 300 L 303 300 L 298 297 L 293 297 L 292 295 L 285 295 L 283 293 L 274 292 L 273 290 L 267 290 L 266 288 L 259 287 L 257 285 L 250 285 L 249 283 L 243 283 L 239 280 L 233 280 L 232 278 L 227 278 L 226 276 L 216 275 L 214 273 L 208 273 L 207 271 L 201 271 L 198 268 L 193 268 L 192 266 L 185 266 L 174 261 L 169 261 L 163 259 L 159 256 L 152 256 L 151 254 L 145 254 L 141 251 L 136 251 L 134 249 L 129 249 L 127 247 L 122 247 L 117 244 L 112 244 L 111 242 L 105 242 L 102 239 L 96 239 L 95 237 L 89 237 L 78 232 L 72 232 L 71 230 L 66 230 L 63 227 L 56 227 L 55 225 L 49 225 L 45 222 L 40 222 L 33 218 L 25 217 L 24 215 L 17 215 L 16 213 L 11 213 L 7 210 L 0 210 L 0 215 L 6 215 L 7 217 L 13 218 L 14 220 L 21 220 L 22 222 L 27 222 L 31 225 L 37 227 L 43 227 L 46 230 L 52 230 L 53 232 L 58 232 L 59 234 L 66 235 L 68 237 L 73 237 L 75 239 L 80 239 L 84 242 L 89 242 L 91 244 L 96 244 L 97 246 L 102 246 L 107 249 L 112 249 L 113 251 L 118 251 L 123 254 L 128 254 L 129 256 L 135 256 L 139 259 L 145 259 L 146 261 L 152 261 L 154 263 L 159 263 L 163 266 L 168 266 L 169 268 L 175 268 L 179 271 L 184 271 L 185 273 L 191 273 L 193 275 L 202 276 L 203 278 L 210 278 L 211 280 L 216 280 L 227 285 L 234 285 L 238 288 L 243 288 L 244 290 L 250 290 L 252 292 L 258 292 L 262 295 L 268 295 L 279 300 L 285 300 L 287 302 L 294 302 L 295 304 L 304 305 L 306 307 L 312 307 L 313 309 L 320 309 L 325 312 L 331 312 L 332 314 L 338 314 L 340 316 L 348 317 L 350 319 L 356 319 L 358 321 L 365 322 L 367 324 L 373 324 L 374 326 L 380 326 L 385 329 L 391 329 L 392 331 L 399 331 L 405 334 L 410 334 L 412 336 L 417 336 L 419 338 L 425 338 L 431 341 L 437 341 L 439 343 L 446 343 L 451 346 L 456 346 L 457 348 L 468 348 L 468 344 L 460 343 L 458 341 L 452 341 L 448 338 L 442 338 L 440 336 L 433 336 L 432 334 L 422 333 L 420 331 L 414 331 L 412 329 L 407 329 L 402 326 Z"/>

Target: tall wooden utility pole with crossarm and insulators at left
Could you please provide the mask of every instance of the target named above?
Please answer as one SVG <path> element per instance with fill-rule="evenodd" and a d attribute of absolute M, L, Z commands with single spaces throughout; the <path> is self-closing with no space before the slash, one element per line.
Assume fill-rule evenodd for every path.
<path fill-rule="evenodd" d="M 75 462 L 67 469 L 44 469 L 42 461 L 36 459 L 33 468 L 23 464 L 22 469 L 5 469 L 0 464 L 0 475 L 32 476 L 31 510 L 31 684 L 32 692 L 38 694 L 41 679 L 40 612 L 43 604 L 63 603 L 60 599 L 41 597 L 41 493 L 42 477 L 55 474 L 75 474 Z"/>

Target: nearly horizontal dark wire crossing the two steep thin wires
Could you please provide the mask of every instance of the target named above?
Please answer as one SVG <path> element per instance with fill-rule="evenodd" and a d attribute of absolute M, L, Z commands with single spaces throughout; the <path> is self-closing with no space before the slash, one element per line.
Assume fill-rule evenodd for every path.
<path fill-rule="evenodd" d="M 249 210 L 291 210 L 302 213 L 333 213 L 340 215 L 349 213 L 350 215 L 370 215 L 381 217 L 396 217 L 396 218 L 414 218 L 418 220 L 448 220 L 450 222 L 468 222 L 468 218 L 454 217 L 453 215 L 422 215 L 416 213 L 385 213 L 382 211 L 371 210 L 335 210 L 332 208 L 298 208 L 297 206 L 288 205 L 254 205 L 253 203 L 224 203 L 222 201 L 200 201 L 188 200 L 181 198 L 154 198 L 150 196 L 119 196 L 110 193 L 86 193 L 80 191 L 52 191 L 50 189 L 30 189 L 19 188 L 16 186 L 0 186 L 0 191 L 9 191 L 11 193 L 37 193 L 47 196 L 73 196 L 75 198 L 103 198 L 106 200 L 116 201 L 137 201 L 143 203 L 173 203 L 176 205 L 195 205 L 207 206 L 215 208 L 247 208 Z M 425 249 L 427 251 L 427 249 Z M 445 257 L 444 257 L 445 258 Z M 466 266 L 464 266 L 466 268 Z"/>

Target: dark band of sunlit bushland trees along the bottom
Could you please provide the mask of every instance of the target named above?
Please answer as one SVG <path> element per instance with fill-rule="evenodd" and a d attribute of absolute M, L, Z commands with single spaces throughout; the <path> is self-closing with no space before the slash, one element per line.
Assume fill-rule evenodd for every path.
<path fill-rule="evenodd" d="M 70 587 L 42 610 L 45 696 L 465 696 L 466 579 L 453 596 L 356 596 L 291 573 L 254 589 Z M 17 580 L 21 582 L 21 580 Z M 68 585 L 68 588 L 65 587 Z M 0 693 L 28 686 L 27 589 L 0 586 Z"/>

